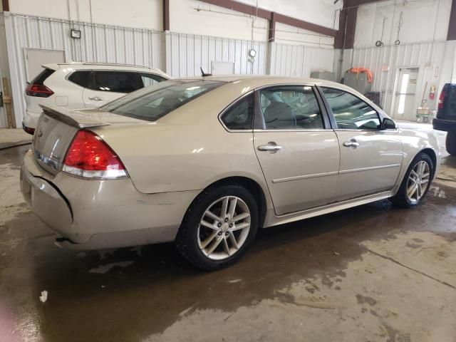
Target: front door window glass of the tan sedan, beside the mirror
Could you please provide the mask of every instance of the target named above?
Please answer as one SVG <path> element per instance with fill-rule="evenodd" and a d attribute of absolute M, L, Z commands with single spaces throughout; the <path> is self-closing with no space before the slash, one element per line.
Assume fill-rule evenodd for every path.
<path fill-rule="evenodd" d="M 321 88 L 333 111 L 337 127 L 345 130 L 378 130 L 378 113 L 351 93 L 333 88 Z"/>

